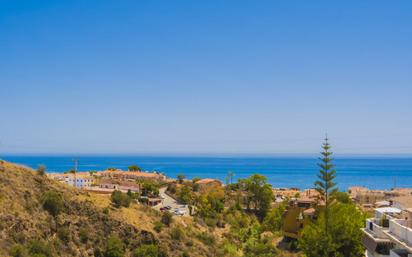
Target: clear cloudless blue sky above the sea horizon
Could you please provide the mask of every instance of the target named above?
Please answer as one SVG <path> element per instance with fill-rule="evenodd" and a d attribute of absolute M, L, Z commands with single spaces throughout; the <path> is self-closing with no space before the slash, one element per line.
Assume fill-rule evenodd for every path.
<path fill-rule="evenodd" d="M 0 153 L 412 153 L 412 1 L 0 1 Z"/>

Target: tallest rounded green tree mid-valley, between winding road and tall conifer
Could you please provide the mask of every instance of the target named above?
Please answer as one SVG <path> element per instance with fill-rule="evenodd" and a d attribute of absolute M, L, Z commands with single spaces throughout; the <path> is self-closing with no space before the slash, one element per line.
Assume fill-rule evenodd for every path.
<path fill-rule="evenodd" d="M 247 192 L 246 205 L 250 204 L 264 216 L 273 200 L 272 187 L 267 183 L 267 178 L 260 174 L 253 174 L 247 179 L 240 179 L 241 188 Z"/>

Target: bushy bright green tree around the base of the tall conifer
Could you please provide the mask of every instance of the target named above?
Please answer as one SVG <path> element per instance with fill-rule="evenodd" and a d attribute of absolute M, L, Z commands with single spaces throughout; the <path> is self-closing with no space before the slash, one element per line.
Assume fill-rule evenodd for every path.
<path fill-rule="evenodd" d="M 325 213 L 305 226 L 299 239 L 299 248 L 307 257 L 360 257 L 364 254 L 361 238 L 365 214 L 354 204 L 334 203 L 329 209 L 328 234 Z"/>

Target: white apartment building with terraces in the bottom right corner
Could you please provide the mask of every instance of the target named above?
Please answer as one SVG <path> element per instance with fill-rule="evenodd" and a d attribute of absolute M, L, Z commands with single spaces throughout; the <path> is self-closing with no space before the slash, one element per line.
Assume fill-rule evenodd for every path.
<path fill-rule="evenodd" d="M 398 207 L 399 205 L 394 206 Z M 366 257 L 412 257 L 412 209 L 383 207 L 366 220 Z"/>

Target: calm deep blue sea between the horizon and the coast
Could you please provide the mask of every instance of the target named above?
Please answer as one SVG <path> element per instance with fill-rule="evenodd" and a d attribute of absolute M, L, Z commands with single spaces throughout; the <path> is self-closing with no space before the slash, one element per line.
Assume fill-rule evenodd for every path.
<path fill-rule="evenodd" d="M 49 172 L 73 168 L 69 156 L 6 156 L 5 160 L 36 168 L 44 164 Z M 147 157 L 147 156 L 83 156 L 77 157 L 79 170 L 103 170 L 108 167 L 127 169 L 137 164 L 144 170 L 164 172 L 169 177 L 184 173 L 187 178 L 209 177 L 225 182 L 228 171 L 234 179 L 253 173 L 265 175 L 274 187 L 311 188 L 316 180 L 317 158 L 313 157 Z M 336 158 L 337 182 L 340 189 L 366 186 L 373 189 L 412 187 L 412 158 Z"/>

